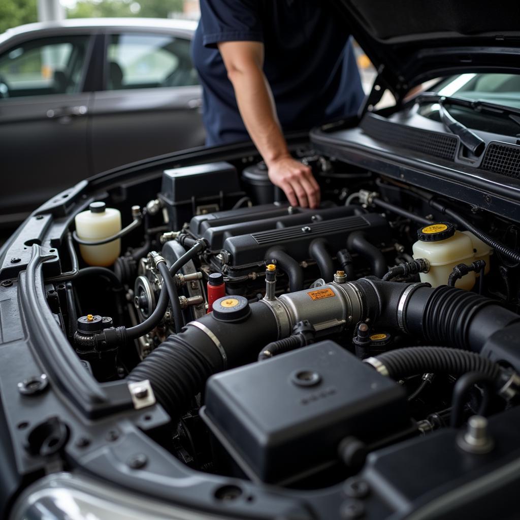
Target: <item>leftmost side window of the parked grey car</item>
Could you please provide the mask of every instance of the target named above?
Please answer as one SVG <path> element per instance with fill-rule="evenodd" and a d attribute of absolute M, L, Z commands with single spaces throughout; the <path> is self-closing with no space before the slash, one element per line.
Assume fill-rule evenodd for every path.
<path fill-rule="evenodd" d="M 0 100 L 81 91 L 89 36 L 25 42 L 0 56 Z"/>

